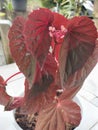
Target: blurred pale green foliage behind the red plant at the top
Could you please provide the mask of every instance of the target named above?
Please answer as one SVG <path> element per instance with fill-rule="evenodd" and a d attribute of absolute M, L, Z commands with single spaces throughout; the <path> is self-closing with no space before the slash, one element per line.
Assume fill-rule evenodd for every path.
<path fill-rule="evenodd" d="M 52 9 L 58 8 L 56 10 L 68 18 L 79 15 L 88 15 L 87 11 L 83 10 L 83 3 L 86 2 L 86 0 L 41 0 L 41 2 L 44 7 Z"/>

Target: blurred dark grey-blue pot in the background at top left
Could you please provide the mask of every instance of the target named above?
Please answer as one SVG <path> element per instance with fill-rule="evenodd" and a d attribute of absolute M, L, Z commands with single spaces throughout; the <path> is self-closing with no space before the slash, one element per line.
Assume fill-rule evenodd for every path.
<path fill-rule="evenodd" d="M 27 0 L 12 0 L 13 9 L 15 11 L 26 11 L 27 8 Z"/>

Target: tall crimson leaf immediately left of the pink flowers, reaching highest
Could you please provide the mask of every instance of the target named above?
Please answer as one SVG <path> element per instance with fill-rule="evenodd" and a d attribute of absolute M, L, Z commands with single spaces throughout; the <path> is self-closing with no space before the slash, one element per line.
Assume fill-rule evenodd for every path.
<path fill-rule="evenodd" d="M 25 24 L 24 36 L 28 51 L 37 58 L 40 65 L 43 64 L 50 48 L 51 38 L 49 26 L 53 22 L 53 14 L 50 10 L 40 8 L 34 10 Z"/>

